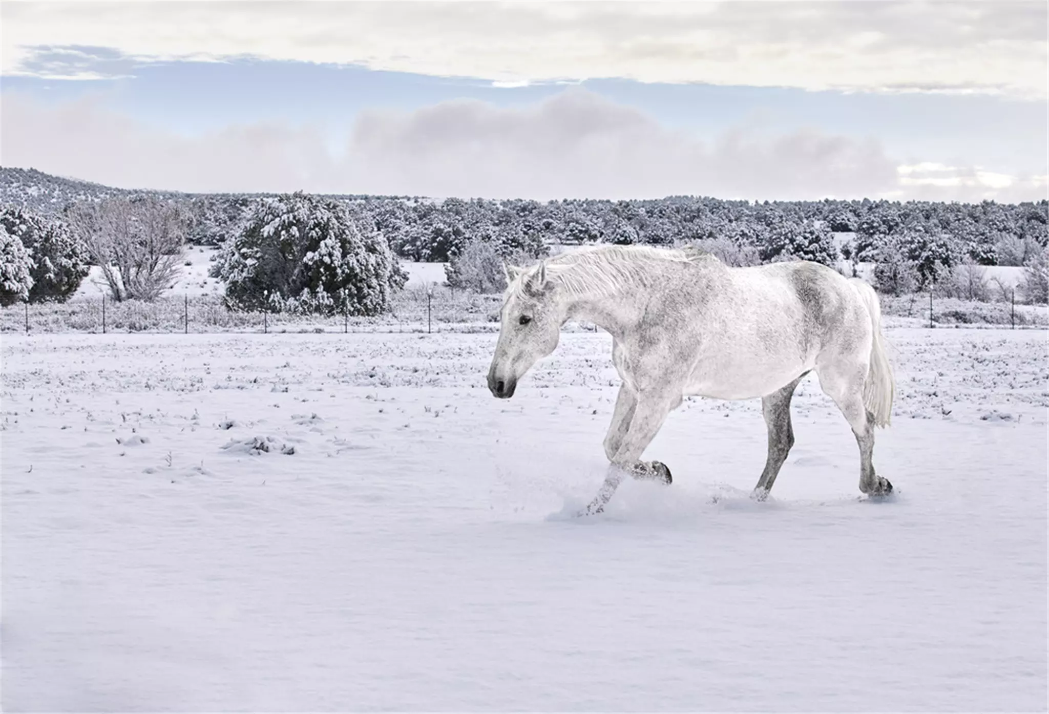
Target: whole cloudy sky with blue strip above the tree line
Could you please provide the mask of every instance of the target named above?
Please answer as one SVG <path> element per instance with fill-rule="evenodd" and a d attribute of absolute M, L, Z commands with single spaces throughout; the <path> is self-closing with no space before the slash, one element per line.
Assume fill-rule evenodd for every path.
<path fill-rule="evenodd" d="M 1049 3 L 0 5 L 0 164 L 122 188 L 1049 198 Z"/>

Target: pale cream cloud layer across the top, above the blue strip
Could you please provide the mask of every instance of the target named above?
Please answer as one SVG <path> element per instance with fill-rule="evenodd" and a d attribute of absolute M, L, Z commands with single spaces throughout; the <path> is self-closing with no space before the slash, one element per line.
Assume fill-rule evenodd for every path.
<path fill-rule="evenodd" d="M 57 48 L 87 45 L 135 62 L 254 57 L 510 85 L 625 78 L 1049 95 L 1049 6 L 1039 1 L 78 2 L 0 12 L 7 74 L 73 77 Z"/>

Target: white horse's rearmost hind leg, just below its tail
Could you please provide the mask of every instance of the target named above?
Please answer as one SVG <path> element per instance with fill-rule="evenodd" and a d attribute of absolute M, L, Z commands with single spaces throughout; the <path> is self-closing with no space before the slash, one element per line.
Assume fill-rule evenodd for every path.
<path fill-rule="evenodd" d="M 856 361 L 848 364 L 829 364 L 816 367 L 819 386 L 834 399 L 849 426 L 852 427 L 859 446 L 859 490 L 869 496 L 887 496 L 893 484 L 887 478 L 875 473 L 874 415 L 863 404 L 863 385 L 868 375 L 868 364 Z"/>

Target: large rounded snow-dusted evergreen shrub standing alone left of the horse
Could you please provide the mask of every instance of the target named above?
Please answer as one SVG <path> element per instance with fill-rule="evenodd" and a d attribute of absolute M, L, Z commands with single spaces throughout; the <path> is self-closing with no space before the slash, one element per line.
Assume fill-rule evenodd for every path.
<path fill-rule="evenodd" d="M 386 240 L 344 205 L 303 193 L 259 200 L 212 268 L 231 309 L 373 316 L 404 284 Z"/>

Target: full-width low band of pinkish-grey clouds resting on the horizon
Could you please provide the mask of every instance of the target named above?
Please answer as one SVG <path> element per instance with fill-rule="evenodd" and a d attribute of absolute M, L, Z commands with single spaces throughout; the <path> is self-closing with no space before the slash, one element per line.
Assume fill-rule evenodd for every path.
<path fill-rule="evenodd" d="M 973 174 L 979 186 L 937 185 L 926 180 L 927 167 L 898 170 L 874 140 L 814 129 L 776 136 L 737 129 L 700 140 L 579 88 L 520 108 L 455 101 L 368 110 L 338 155 L 316 128 L 256 124 L 185 137 L 88 100 L 43 105 L 8 91 L 0 118 L 6 166 L 126 188 L 540 199 L 912 197 L 934 189 L 942 199 L 962 199 L 973 187 L 988 197 L 1030 199 L 1045 192 L 1044 183 L 987 172 Z"/>

